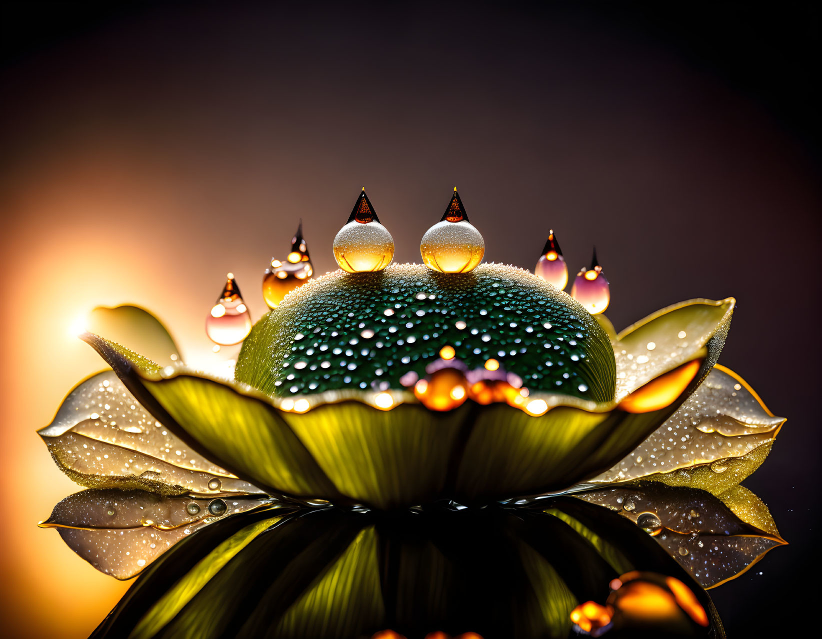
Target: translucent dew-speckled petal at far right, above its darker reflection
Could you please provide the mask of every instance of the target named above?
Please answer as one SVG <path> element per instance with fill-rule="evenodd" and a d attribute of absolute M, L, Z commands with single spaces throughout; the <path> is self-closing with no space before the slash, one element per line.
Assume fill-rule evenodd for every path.
<path fill-rule="evenodd" d="M 729 464 L 735 469 L 732 475 L 739 476 L 751 466 L 747 462 L 761 463 L 762 453 L 766 454 L 769 447 L 755 455 L 751 453 L 772 442 L 783 422 L 783 418 L 774 417 L 736 373 L 715 365 L 703 384 L 663 425 L 621 462 L 589 483 L 611 484 L 653 476 L 672 485 L 691 485 L 675 471 L 713 465 L 714 474 L 718 475 Z M 743 457 L 746 463 L 732 463 Z M 754 469 L 750 468 L 748 474 Z M 709 490 L 704 485 L 695 487 Z M 729 487 L 719 486 L 722 490 L 711 492 L 718 494 Z"/>

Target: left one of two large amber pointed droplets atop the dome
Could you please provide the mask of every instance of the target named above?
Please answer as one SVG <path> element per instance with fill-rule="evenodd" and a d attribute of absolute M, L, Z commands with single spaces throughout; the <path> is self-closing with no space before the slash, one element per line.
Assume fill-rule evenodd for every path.
<path fill-rule="evenodd" d="M 349 221 L 334 238 L 334 259 L 349 273 L 381 271 L 394 259 L 394 238 L 376 217 L 364 187 Z"/>

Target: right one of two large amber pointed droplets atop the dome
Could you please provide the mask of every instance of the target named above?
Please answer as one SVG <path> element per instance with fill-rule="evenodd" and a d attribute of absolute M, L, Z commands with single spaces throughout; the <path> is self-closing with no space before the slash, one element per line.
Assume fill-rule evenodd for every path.
<path fill-rule="evenodd" d="M 441 273 L 468 273 L 483 261 L 485 241 L 468 221 L 456 187 L 442 219 L 423 235 L 419 252 L 423 264 Z"/>

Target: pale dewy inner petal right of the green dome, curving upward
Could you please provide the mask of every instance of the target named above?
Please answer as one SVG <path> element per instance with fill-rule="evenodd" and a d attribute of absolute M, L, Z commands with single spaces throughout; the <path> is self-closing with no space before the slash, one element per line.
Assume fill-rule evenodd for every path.
<path fill-rule="evenodd" d="M 732 297 L 683 301 L 619 333 L 614 344 L 617 402 L 651 379 L 703 357 L 710 341 L 724 342 L 735 303 Z"/>

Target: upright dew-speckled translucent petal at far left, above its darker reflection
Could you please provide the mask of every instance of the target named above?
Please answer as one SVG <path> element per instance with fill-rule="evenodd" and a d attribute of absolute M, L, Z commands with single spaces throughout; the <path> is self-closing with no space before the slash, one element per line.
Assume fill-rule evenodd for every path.
<path fill-rule="evenodd" d="M 58 466 L 82 485 L 164 494 L 262 492 L 184 444 L 113 370 L 74 388 L 39 434 Z"/>

